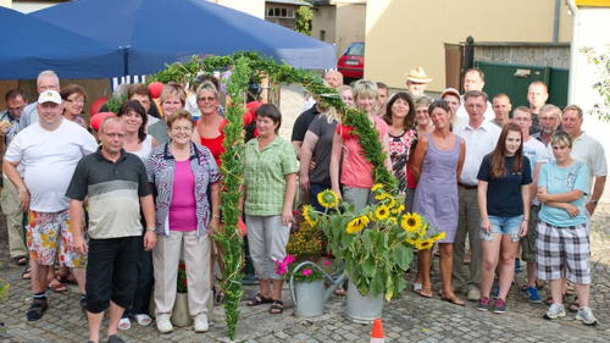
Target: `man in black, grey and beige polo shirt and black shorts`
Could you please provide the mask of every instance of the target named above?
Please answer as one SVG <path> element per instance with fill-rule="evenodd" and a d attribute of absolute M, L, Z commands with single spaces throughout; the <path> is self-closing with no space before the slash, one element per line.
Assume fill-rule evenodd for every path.
<path fill-rule="evenodd" d="M 73 247 L 88 251 L 87 319 L 89 342 L 99 342 L 99 327 L 109 309 L 108 341 L 123 342 L 117 326 L 134 298 L 137 286 L 137 245 L 146 251 L 156 243 L 154 203 L 139 157 L 123 150 L 125 129 L 116 117 L 102 122 L 102 145 L 81 159 L 66 197 L 70 198 Z M 83 202 L 88 198 L 89 243 L 82 233 Z M 140 204 L 146 221 L 142 240 Z"/>

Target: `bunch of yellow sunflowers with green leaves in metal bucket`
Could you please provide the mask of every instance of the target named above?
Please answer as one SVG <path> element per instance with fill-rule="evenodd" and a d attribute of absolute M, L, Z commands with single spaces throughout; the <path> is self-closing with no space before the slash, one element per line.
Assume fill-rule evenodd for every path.
<path fill-rule="evenodd" d="M 346 275 L 360 294 L 383 294 L 390 301 L 406 287 L 404 272 L 409 269 L 413 250 L 428 249 L 445 234 L 431 236 L 426 219 L 404 212 L 403 200 L 382 184 L 375 184 L 371 192 L 376 204 L 355 211 L 353 205 L 327 189 L 318 194 L 325 211 L 306 205 L 303 217 L 323 230 L 328 250 L 345 265 Z"/>

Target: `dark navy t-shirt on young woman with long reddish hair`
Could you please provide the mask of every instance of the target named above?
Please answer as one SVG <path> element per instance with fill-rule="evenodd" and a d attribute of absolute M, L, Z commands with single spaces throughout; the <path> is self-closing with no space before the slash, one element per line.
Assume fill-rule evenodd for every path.
<path fill-rule="evenodd" d="M 504 157 L 506 176 L 492 178 L 490 176 L 492 154 L 483 158 L 479 173 L 476 176 L 481 181 L 487 181 L 487 214 L 497 217 L 514 217 L 523 214 L 523 198 L 521 186 L 531 184 L 532 173 L 529 159 L 523 156 L 523 170 L 514 171 L 515 157 Z"/>

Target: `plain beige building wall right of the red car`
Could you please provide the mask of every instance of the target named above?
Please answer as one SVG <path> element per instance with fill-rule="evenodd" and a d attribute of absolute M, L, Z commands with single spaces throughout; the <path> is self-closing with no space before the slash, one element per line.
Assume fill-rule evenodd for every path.
<path fill-rule="evenodd" d="M 445 88 L 443 43 L 551 42 L 551 0 L 375 0 L 368 1 L 365 78 L 404 87 L 404 74 L 421 65 L 434 80 L 428 90 Z M 569 42 L 572 17 L 561 1 L 559 41 Z"/>

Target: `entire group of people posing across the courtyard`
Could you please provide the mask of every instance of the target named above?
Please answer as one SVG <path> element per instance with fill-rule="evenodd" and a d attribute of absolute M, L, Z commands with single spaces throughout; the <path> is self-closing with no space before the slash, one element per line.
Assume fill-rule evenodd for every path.
<path fill-rule="evenodd" d="M 222 251 L 210 234 L 223 225 L 227 120 L 218 81 L 200 81 L 190 96 L 182 85 L 166 84 L 158 101 L 146 85 L 130 85 L 117 113 L 92 115 L 90 128 L 84 88 L 60 87 L 52 71 L 38 76 L 34 103 L 26 105 L 20 90 L 6 93 L 2 211 L 10 256 L 18 264 L 29 260 L 23 275 L 32 280 L 28 320 L 43 316 L 48 289 L 65 291 L 73 280 L 91 342 L 99 341 L 106 310 L 110 342 L 122 341 L 117 330 L 127 330 L 131 320 L 150 325 L 151 295 L 156 327 L 168 333 L 183 260 L 194 329 L 209 330 L 210 309 L 223 297 L 213 272 L 223 269 Z M 576 318 L 595 323 L 588 237 L 606 161 L 600 143 L 581 129 L 582 110 L 545 104 L 546 85 L 533 82 L 531 106 L 517 107 L 511 117 L 509 96 L 495 95 L 490 103 L 476 68 L 465 73 L 464 95 L 448 88 L 432 99 L 424 93 L 430 81 L 416 67 L 406 91 L 389 96 L 382 82 L 349 86 L 337 71 L 325 74 L 326 84 L 346 105 L 363 110 L 378 132 L 384 165 L 397 177 L 407 211 L 445 232 L 438 248 L 443 300 L 464 305 L 459 294 L 465 291 L 478 309 L 506 311 L 521 249 L 529 300 L 541 301 L 536 282 L 548 280 L 545 316 L 565 316 L 567 279 L 578 296 Z M 274 261 L 285 257 L 296 188 L 320 210 L 317 194 L 325 189 L 362 209 L 375 201 L 373 166 L 357 135 L 317 95 L 296 119 L 291 144 L 278 135 L 278 108 L 260 101 L 260 87 L 249 90 L 240 209 L 260 286 L 246 305 L 269 304 L 270 314 L 281 314 L 283 281 Z M 185 110 L 189 98 L 198 120 Z M 465 275 L 467 241 L 472 262 Z M 414 291 L 422 297 L 433 296 L 431 259 L 431 250 L 418 252 Z"/>

